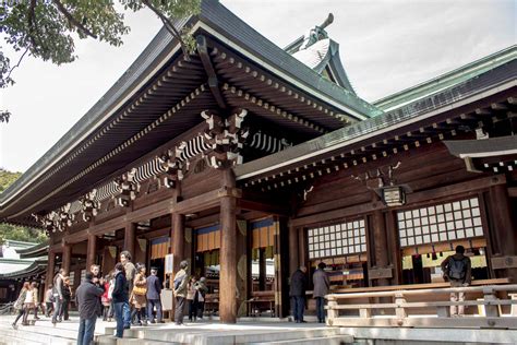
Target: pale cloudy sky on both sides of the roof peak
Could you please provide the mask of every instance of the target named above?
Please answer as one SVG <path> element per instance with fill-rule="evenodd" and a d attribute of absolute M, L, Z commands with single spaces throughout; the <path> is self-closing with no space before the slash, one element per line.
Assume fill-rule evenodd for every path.
<path fill-rule="evenodd" d="M 284 47 L 329 12 L 329 37 L 358 95 L 374 102 L 516 44 L 515 0 L 221 0 Z M 0 90 L 0 168 L 25 171 L 108 91 L 160 28 L 151 11 L 127 15 L 122 47 L 76 41 L 79 59 L 26 58 Z M 4 43 L 2 47 L 5 48 Z M 16 60 L 14 57 L 12 60 Z"/>

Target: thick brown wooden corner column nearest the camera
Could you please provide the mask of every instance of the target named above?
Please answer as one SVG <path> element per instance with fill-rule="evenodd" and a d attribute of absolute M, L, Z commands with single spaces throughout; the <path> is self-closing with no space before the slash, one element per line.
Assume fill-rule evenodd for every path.
<path fill-rule="evenodd" d="M 236 186 L 232 169 L 225 169 L 223 188 Z M 237 200 L 233 195 L 220 198 L 220 278 L 219 278 L 219 316 L 225 323 L 237 322 Z"/>

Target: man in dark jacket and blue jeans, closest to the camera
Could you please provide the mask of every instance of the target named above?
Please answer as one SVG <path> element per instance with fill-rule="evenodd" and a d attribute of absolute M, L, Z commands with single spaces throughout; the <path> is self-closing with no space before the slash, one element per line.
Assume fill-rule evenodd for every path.
<path fill-rule="evenodd" d="M 86 273 L 83 283 L 77 287 L 75 299 L 79 307 L 79 335 L 77 345 L 89 345 L 95 333 L 97 321 L 98 302 L 104 289 L 95 286 L 92 282 L 94 275 Z"/>

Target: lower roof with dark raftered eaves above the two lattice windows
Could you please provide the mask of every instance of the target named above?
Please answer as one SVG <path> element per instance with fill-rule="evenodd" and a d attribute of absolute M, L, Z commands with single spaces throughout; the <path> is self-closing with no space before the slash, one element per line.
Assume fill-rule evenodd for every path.
<path fill-rule="evenodd" d="M 480 122 L 494 126 L 515 116 L 516 74 L 517 60 L 506 61 L 382 116 L 238 166 L 237 179 L 262 189 L 287 187 L 411 146 L 453 139 L 461 131 L 472 132 Z"/>

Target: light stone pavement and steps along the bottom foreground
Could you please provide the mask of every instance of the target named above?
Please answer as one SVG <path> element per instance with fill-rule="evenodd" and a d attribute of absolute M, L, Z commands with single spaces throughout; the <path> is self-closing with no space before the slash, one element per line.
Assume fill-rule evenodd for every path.
<path fill-rule="evenodd" d="M 32 318 L 32 317 L 31 317 Z M 41 318 L 35 325 L 11 328 L 14 316 L 0 317 L 0 344 L 75 344 L 79 318 L 52 325 Z M 274 319 L 273 319 L 274 320 Z M 270 320 L 270 321 L 273 321 Z M 269 320 L 267 320 L 269 321 Z M 353 338 L 341 334 L 344 329 L 327 328 L 318 323 L 244 321 L 238 324 L 220 324 L 202 321 L 177 326 L 173 323 L 135 326 L 124 332 L 123 340 L 112 336 L 115 322 L 97 321 L 96 344 L 351 344 Z"/>

